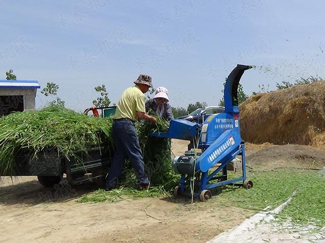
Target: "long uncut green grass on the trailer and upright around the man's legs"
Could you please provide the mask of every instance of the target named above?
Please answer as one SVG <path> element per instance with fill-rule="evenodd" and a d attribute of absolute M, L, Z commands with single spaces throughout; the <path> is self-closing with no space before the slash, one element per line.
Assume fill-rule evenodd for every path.
<path fill-rule="evenodd" d="M 112 125 L 111 117 L 91 117 L 59 106 L 4 116 L 0 118 L 0 175 L 15 176 L 17 154 L 26 154 L 34 159 L 39 152 L 52 148 L 70 161 L 76 156 L 76 151 L 87 153 L 87 149 L 93 147 L 113 148 Z M 149 136 L 150 132 L 166 132 L 168 127 L 169 123 L 160 118 L 156 125 L 136 123 L 151 185 L 169 184 L 170 189 L 176 181 L 170 163 L 170 140 Z M 136 177 L 130 163 L 126 162 L 124 168 L 120 186 L 135 185 Z"/>

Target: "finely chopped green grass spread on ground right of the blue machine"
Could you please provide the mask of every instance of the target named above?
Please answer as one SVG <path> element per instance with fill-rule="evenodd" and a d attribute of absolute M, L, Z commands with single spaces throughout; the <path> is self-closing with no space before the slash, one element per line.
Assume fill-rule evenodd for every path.
<path fill-rule="evenodd" d="M 325 225 L 325 179 L 317 171 L 282 169 L 249 173 L 254 183 L 250 190 L 226 186 L 215 200 L 221 207 L 234 205 L 254 211 L 276 208 L 296 191 L 293 200 L 280 212 L 294 224 Z"/>

